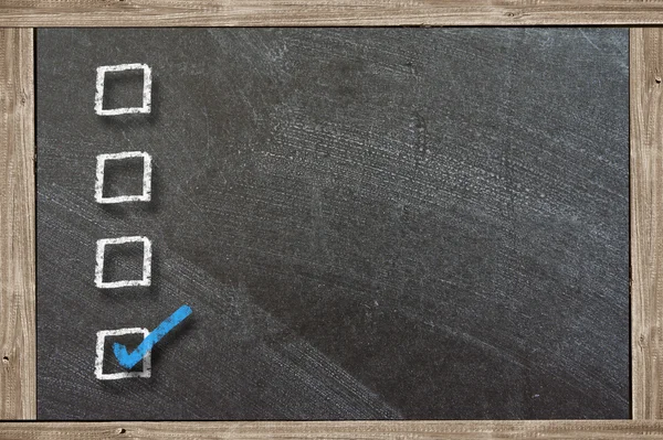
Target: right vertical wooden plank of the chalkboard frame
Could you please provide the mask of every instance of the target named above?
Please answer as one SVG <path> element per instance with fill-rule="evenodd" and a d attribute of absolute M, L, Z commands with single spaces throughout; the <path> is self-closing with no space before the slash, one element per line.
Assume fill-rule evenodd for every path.
<path fill-rule="evenodd" d="M 663 418 L 663 29 L 631 30 L 633 417 Z"/>

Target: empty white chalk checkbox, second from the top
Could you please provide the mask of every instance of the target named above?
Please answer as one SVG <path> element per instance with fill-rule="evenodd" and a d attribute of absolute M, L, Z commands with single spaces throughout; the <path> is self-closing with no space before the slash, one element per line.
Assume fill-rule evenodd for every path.
<path fill-rule="evenodd" d="M 141 167 L 136 167 L 137 161 L 143 162 Z M 122 179 L 130 179 L 126 175 L 127 172 L 141 174 L 139 180 L 140 190 L 137 193 L 128 191 L 126 185 L 123 185 L 126 182 L 118 182 Z M 109 194 L 116 186 L 125 186 L 124 191 L 128 191 L 129 193 L 122 194 L 116 192 L 115 194 Z M 97 203 L 149 202 L 151 200 L 151 157 L 141 151 L 125 151 L 122 153 L 97 155 L 94 191 Z"/>

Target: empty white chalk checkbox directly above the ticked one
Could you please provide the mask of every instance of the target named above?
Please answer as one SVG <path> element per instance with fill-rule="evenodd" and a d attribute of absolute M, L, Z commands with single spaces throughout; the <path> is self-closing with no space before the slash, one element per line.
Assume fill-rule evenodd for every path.
<path fill-rule="evenodd" d="M 135 244 L 143 245 L 140 277 L 131 279 L 108 280 L 107 266 L 110 266 L 110 250 L 135 249 Z M 117 259 L 117 255 L 113 259 Z M 115 267 L 118 265 L 115 264 Z M 122 266 L 122 265 L 119 265 Z M 148 287 L 151 285 L 151 242 L 147 237 L 103 238 L 97 240 L 95 286 L 99 289 L 118 289 L 124 287 Z"/>

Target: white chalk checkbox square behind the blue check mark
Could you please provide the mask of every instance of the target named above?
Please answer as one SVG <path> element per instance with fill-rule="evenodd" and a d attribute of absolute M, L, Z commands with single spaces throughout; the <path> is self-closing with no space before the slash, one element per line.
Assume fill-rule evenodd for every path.
<path fill-rule="evenodd" d="M 125 345 L 127 350 L 134 350 L 148 334 L 149 331 L 141 328 L 102 330 L 97 332 L 96 357 L 94 361 L 95 377 L 99 380 L 150 377 L 150 352 L 148 352 L 143 359 L 130 369 L 122 367 L 113 353 L 113 343 L 117 342 Z"/>

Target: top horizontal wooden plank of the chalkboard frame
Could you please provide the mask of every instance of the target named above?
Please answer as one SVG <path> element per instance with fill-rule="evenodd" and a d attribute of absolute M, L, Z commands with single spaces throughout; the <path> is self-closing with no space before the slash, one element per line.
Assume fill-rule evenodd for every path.
<path fill-rule="evenodd" d="M 7 0 L 0 26 L 663 24 L 649 0 Z"/>

